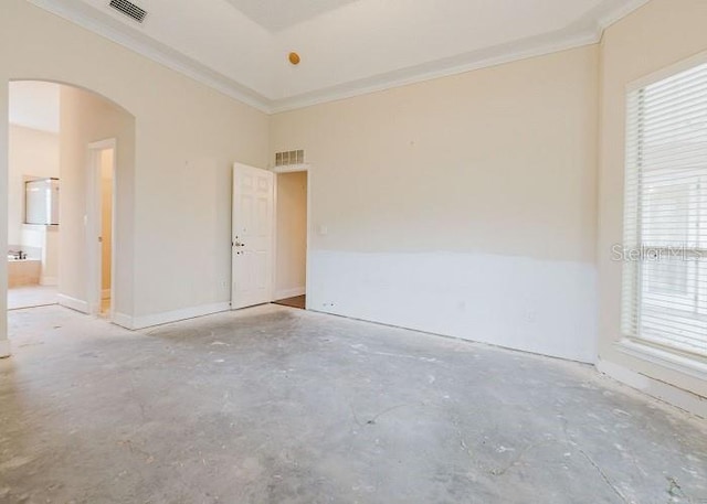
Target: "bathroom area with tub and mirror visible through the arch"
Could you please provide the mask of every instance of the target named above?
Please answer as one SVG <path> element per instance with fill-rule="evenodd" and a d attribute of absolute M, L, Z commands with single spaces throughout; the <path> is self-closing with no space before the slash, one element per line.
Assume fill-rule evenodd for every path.
<path fill-rule="evenodd" d="M 9 86 L 8 310 L 57 302 L 60 87 Z"/>

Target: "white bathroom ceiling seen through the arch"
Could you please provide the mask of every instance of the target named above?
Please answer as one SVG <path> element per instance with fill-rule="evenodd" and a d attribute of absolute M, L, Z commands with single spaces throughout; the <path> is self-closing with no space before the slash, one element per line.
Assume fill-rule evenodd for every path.
<path fill-rule="evenodd" d="M 9 87 L 11 125 L 59 132 L 59 84 L 19 81 Z"/>

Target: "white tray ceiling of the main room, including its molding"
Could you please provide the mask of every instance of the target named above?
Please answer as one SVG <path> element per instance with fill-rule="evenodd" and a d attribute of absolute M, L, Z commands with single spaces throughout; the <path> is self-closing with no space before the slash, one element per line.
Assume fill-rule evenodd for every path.
<path fill-rule="evenodd" d="M 595 43 L 647 0 L 30 0 L 274 112 Z M 293 66 L 287 54 L 302 63 Z"/>

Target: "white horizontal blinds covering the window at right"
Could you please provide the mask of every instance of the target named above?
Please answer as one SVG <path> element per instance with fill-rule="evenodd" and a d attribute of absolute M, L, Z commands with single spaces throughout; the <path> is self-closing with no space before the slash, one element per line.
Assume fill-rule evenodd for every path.
<path fill-rule="evenodd" d="M 707 356 L 707 64 L 629 93 L 623 333 Z"/>

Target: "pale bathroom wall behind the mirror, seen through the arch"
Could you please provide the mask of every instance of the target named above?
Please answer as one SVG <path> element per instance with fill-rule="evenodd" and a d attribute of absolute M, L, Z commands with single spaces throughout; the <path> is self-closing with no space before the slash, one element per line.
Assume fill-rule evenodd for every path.
<path fill-rule="evenodd" d="M 59 176 L 59 135 L 10 125 L 8 242 L 22 244 L 25 178 Z"/>

